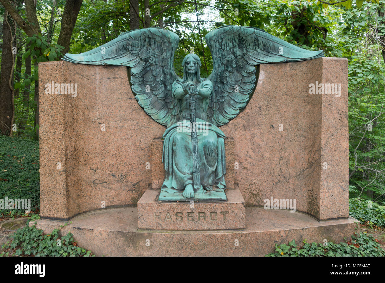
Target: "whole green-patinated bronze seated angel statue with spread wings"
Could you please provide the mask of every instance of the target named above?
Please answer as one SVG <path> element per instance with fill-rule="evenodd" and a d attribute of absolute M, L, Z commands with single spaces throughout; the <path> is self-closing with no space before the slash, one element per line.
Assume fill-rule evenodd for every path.
<path fill-rule="evenodd" d="M 176 33 L 146 28 L 64 60 L 92 65 L 124 65 L 131 89 L 144 111 L 167 126 L 163 134 L 166 178 L 159 201 L 226 200 L 224 133 L 220 126 L 246 107 L 256 86 L 256 66 L 323 56 L 289 44 L 254 27 L 227 25 L 206 35 L 213 72 L 200 75 L 201 60 L 187 54 L 183 78 L 174 72 Z"/>

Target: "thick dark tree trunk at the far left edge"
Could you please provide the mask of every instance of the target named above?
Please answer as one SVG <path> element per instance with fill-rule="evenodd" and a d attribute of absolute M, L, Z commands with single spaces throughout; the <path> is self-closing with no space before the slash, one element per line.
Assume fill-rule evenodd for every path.
<path fill-rule="evenodd" d="M 8 26 L 12 19 L 7 15 L 8 13 L 5 12 L 3 20 L 3 54 L 0 70 L 0 134 L 9 136 L 12 131 L 13 119 L 13 93 L 9 86 L 9 78 L 13 76 L 13 54 L 11 48 L 12 35 Z"/>

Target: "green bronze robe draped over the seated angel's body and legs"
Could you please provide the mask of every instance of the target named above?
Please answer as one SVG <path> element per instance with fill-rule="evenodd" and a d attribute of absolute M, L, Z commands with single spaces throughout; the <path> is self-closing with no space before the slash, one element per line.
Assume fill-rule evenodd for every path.
<path fill-rule="evenodd" d="M 172 95 L 182 87 L 183 82 L 177 79 L 172 84 Z M 211 89 L 213 95 L 213 84 L 204 79 L 197 88 Z M 196 131 L 198 136 L 198 155 L 201 171 L 201 184 L 203 187 L 213 186 L 213 189 L 226 189 L 224 174 L 226 173 L 226 162 L 224 153 L 224 133 L 215 125 L 207 122 L 208 98 L 202 98 L 196 94 Z M 161 190 L 173 193 L 186 188 L 192 184 L 192 146 L 189 95 L 177 99 L 181 109 L 181 118 L 178 122 L 169 126 L 163 134 L 163 156 L 162 162 L 166 170 L 166 179 Z"/>

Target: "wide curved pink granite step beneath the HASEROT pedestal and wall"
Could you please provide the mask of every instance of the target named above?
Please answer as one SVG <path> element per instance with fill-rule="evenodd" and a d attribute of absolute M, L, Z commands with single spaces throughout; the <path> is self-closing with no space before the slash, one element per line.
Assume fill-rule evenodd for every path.
<path fill-rule="evenodd" d="M 61 228 L 82 248 L 97 256 L 264 256 L 275 244 L 340 243 L 356 232 L 357 220 L 328 220 L 288 210 L 246 207 L 246 229 L 211 231 L 138 230 L 137 208 L 105 208 L 80 214 Z M 50 234 L 64 221 L 39 219 L 37 228 Z M 31 221 L 33 225 L 35 221 Z"/>

